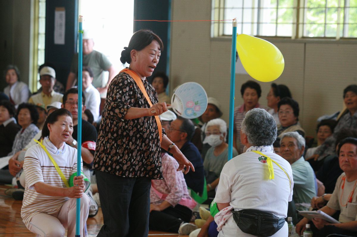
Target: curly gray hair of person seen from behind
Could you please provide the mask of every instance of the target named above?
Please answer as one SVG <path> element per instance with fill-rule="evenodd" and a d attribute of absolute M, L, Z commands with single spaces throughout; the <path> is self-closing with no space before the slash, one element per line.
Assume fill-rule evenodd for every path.
<path fill-rule="evenodd" d="M 271 146 L 276 140 L 278 131 L 274 117 L 259 108 L 247 112 L 241 130 L 253 146 Z"/>

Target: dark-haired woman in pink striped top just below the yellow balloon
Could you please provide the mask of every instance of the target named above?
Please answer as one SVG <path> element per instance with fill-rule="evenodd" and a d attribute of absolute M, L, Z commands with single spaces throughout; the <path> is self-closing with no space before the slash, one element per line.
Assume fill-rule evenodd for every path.
<path fill-rule="evenodd" d="M 234 126 L 233 126 L 233 146 L 237 149 L 238 153 L 243 153 L 244 145 L 242 143 L 237 145 L 239 141 L 239 134 L 241 131 L 241 123 L 246 113 L 253 108 L 262 108 L 267 110 L 267 107 L 258 103 L 262 94 L 260 85 L 255 81 L 247 81 L 241 86 L 241 95 L 243 98 L 243 105 L 234 109 Z"/>

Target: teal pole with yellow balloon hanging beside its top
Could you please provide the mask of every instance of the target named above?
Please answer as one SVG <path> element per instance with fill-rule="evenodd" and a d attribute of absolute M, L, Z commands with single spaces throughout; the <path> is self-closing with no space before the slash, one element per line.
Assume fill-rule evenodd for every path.
<path fill-rule="evenodd" d="M 232 32 L 232 56 L 231 56 L 231 94 L 229 104 L 229 134 L 228 134 L 228 161 L 233 157 L 233 115 L 234 115 L 234 89 L 236 81 L 236 45 L 237 45 L 237 22 L 233 19 Z M 237 134 L 239 136 L 239 134 Z"/>

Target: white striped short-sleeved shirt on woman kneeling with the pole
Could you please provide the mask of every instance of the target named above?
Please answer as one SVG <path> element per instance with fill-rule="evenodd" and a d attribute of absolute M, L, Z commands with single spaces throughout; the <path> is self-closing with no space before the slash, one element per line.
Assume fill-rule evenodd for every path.
<path fill-rule="evenodd" d="M 70 176 L 77 171 L 77 149 L 64 143 L 62 148 L 54 152 L 54 145 L 49 140 L 47 141 L 47 143 L 43 142 L 47 151 L 54 158 L 66 179 L 69 180 Z M 24 171 L 26 185 L 21 217 L 27 226 L 31 217 L 37 213 L 44 212 L 51 215 L 59 212 L 63 203 L 69 198 L 46 196 L 36 192 L 34 184 L 37 182 L 44 182 L 55 187 L 66 187 L 47 153 L 39 144 L 31 146 L 26 151 Z"/>

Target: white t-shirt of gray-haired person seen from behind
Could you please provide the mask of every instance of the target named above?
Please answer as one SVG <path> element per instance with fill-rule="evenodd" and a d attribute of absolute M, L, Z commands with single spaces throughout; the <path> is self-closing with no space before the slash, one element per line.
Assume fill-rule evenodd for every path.
<path fill-rule="evenodd" d="M 276 161 L 289 175 L 273 163 L 274 179 L 268 179 L 268 165 L 260 161 L 261 155 L 252 152 L 260 151 Z M 234 157 L 223 167 L 218 183 L 215 201 L 230 203 L 234 210 L 257 209 L 286 217 L 288 202 L 292 200 L 293 176 L 290 164 L 281 156 L 273 153 L 270 146 L 251 146 L 245 153 Z M 274 237 L 288 235 L 287 223 Z M 219 237 L 252 236 L 242 232 L 231 216 L 220 231 Z"/>

